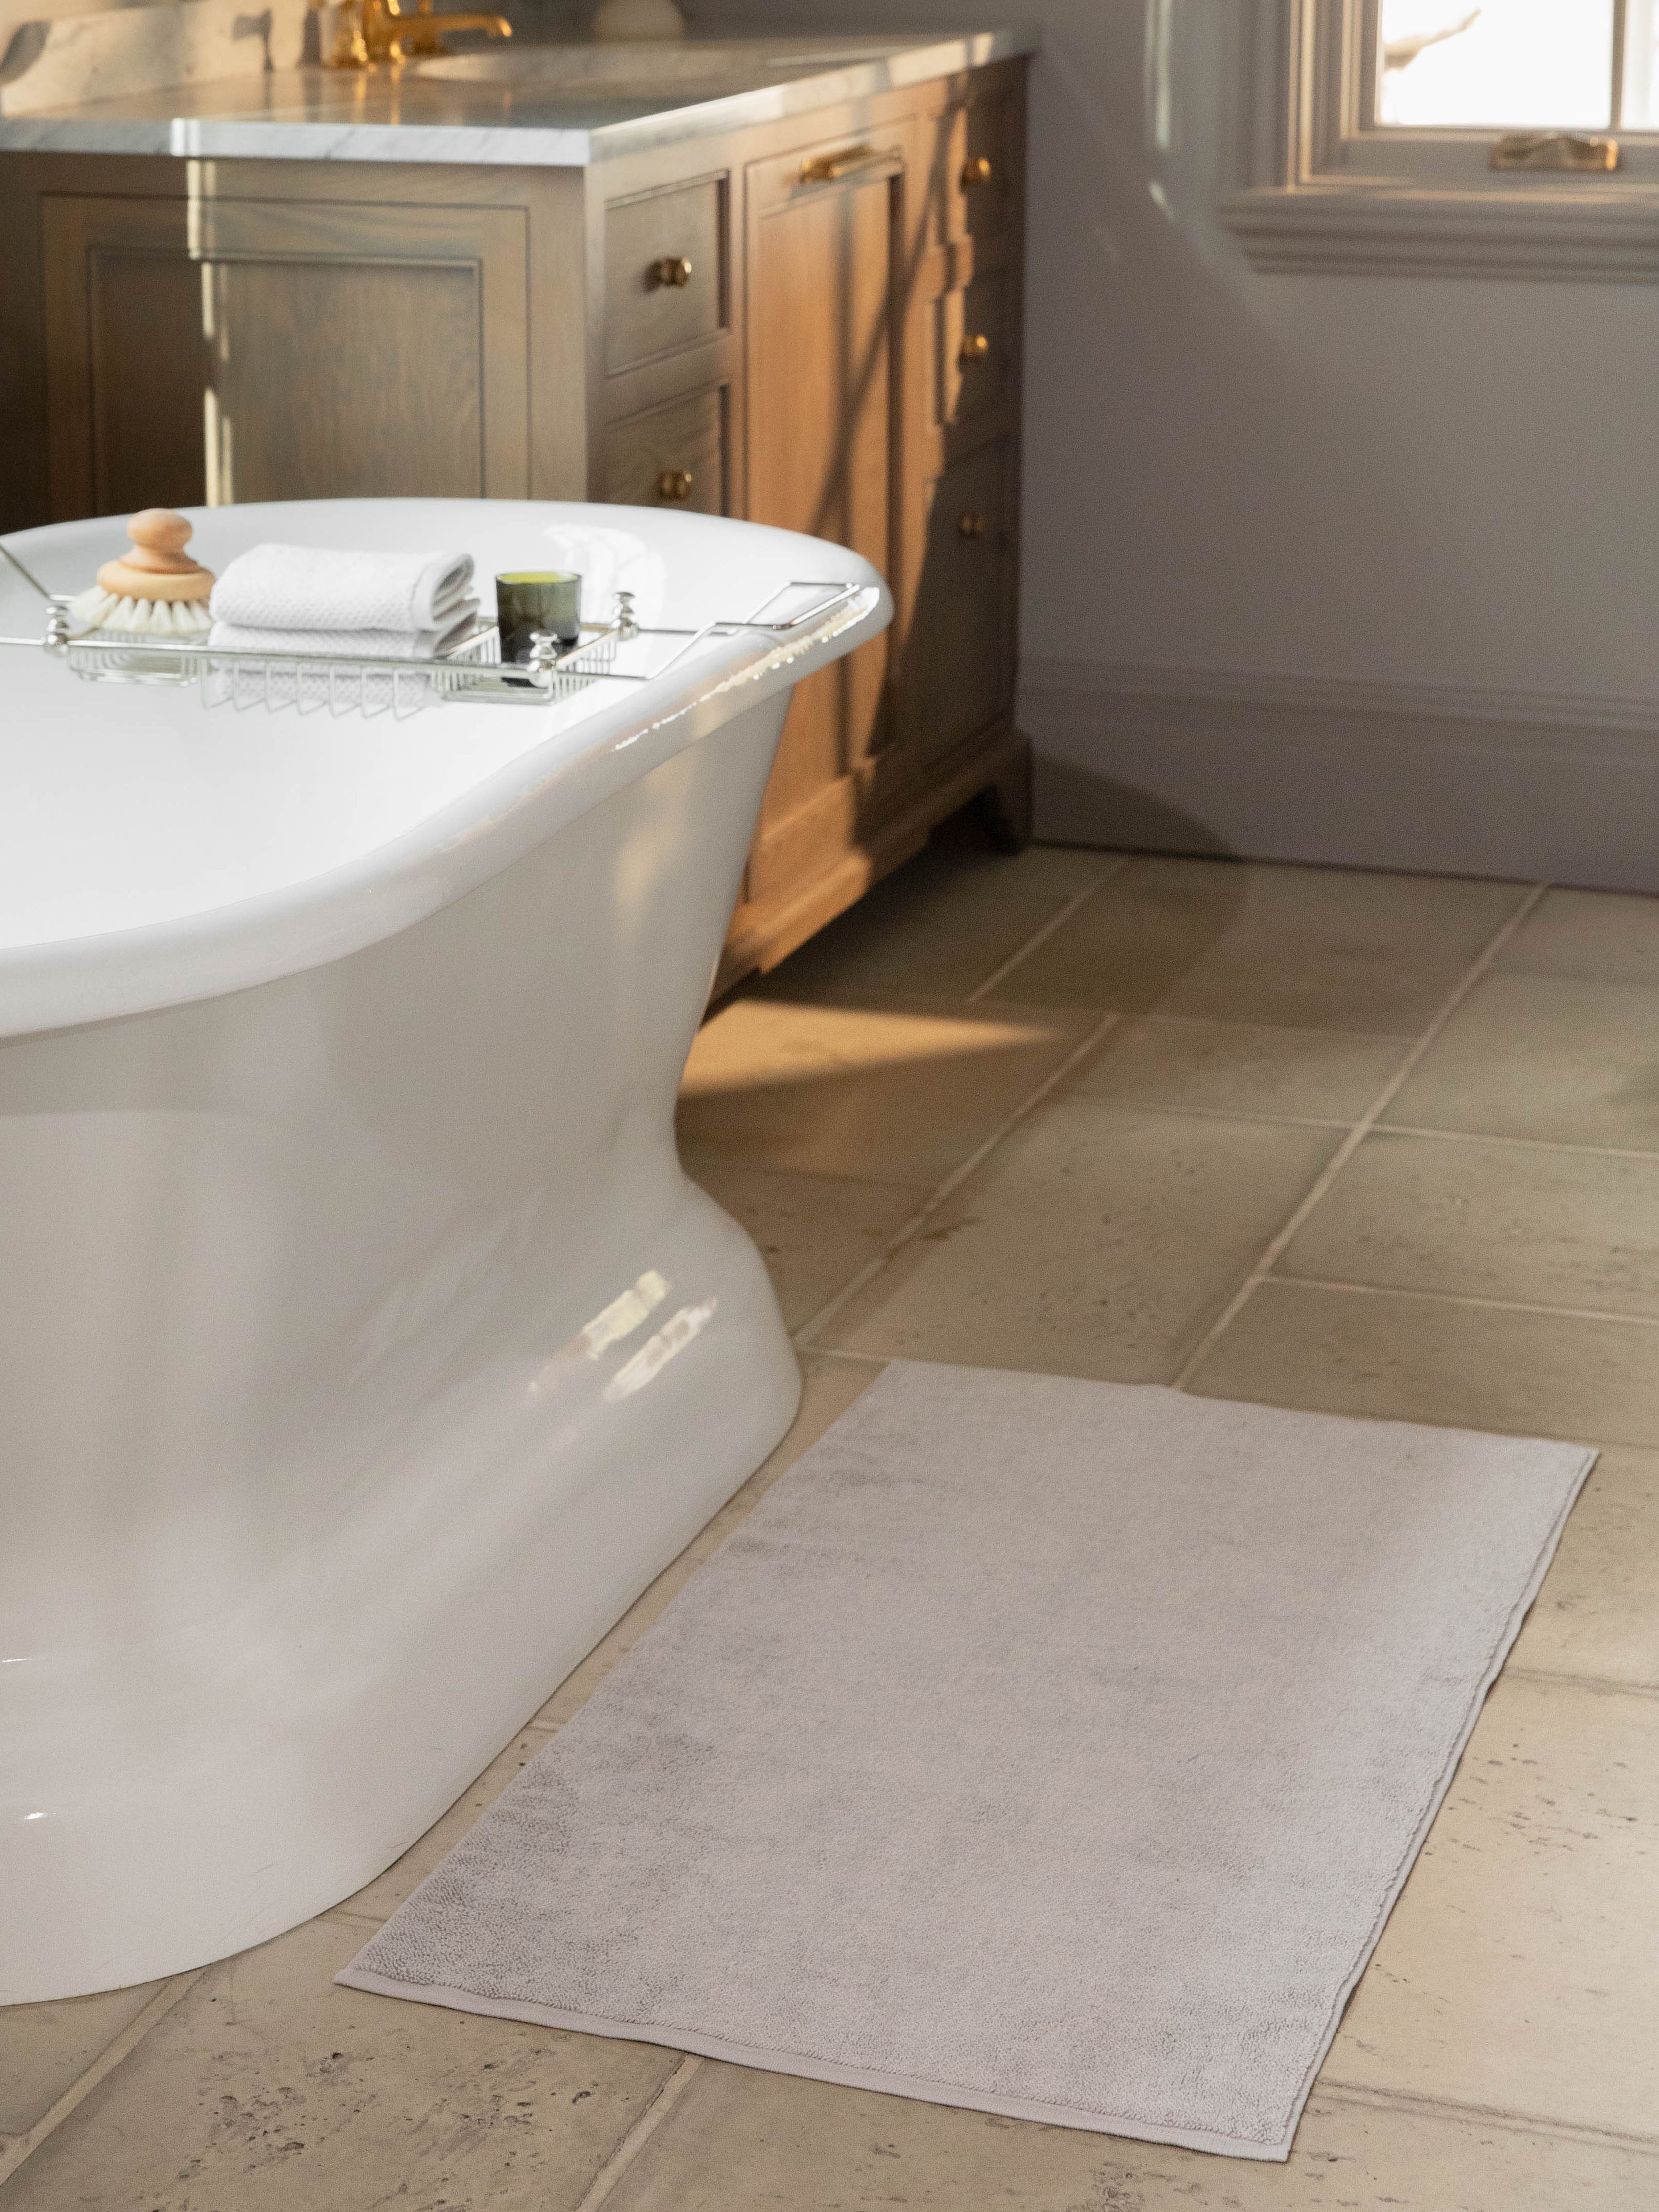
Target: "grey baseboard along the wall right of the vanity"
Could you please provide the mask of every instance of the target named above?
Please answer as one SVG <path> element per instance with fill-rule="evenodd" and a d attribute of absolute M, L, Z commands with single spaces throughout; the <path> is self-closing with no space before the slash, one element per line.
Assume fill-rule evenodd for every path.
<path fill-rule="evenodd" d="M 1659 891 L 1659 701 L 1026 664 L 1035 834 Z"/>

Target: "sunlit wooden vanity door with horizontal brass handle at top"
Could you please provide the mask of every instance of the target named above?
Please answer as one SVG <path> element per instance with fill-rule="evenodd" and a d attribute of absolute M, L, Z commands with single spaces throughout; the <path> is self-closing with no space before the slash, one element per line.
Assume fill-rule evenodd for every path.
<path fill-rule="evenodd" d="M 894 555 L 900 173 L 896 161 L 872 164 L 803 184 L 801 170 L 803 155 L 750 170 L 748 511 L 754 522 L 852 546 L 885 573 Z M 878 745 L 885 684 L 885 637 L 801 684 L 761 843 Z"/>

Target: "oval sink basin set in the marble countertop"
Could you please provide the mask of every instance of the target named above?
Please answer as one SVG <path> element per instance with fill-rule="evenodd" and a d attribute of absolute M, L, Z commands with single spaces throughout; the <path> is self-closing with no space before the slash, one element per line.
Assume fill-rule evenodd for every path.
<path fill-rule="evenodd" d="M 442 18 L 440 18 L 442 20 Z M 462 84 L 544 84 L 588 100 L 719 100 L 787 77 L 885 62 L 914 38 L 688 38 L 661 44 L 489 46 L 409 62 L 409 71 Z"/>

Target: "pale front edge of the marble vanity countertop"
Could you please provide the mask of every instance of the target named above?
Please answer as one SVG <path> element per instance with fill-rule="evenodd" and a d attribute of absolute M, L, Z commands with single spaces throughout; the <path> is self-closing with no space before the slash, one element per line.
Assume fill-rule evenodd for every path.
<path fill-rule="evenodd" d="M 719 100 L 686 106 L 664 104 L 646 115 L 633 115 L 595 126 L 560 126 L 538 122 L 478 122 L 476 111 L 487 97 L 478 84 L 458 88 L 458 102 L 471 108 L 469 119 L 442 122 L 369 122 L 369 119 L 285 119 L 281 115 L 135 115 L 137 100 L 106 100 L 80 108 L 58 108 L 42 115 L 0 117 L 0 153 L 115 153 L 173 155 L 177 159 L 257 159 L 257 161 L 414 161 L 511 168 L 584 168 L 619 155 L 650 153 L 739 131 L 750 124 L 783 122 L 814 108 L 869 100 L 905 91 L 931 77 L 949 77 L 967 69 L 1015 60 L 1037 51 L 1040 31 L 1011 27 L 998 31 L 962 31 L 927 40 L 905 53 L 876 62 L 843 64 L 803 73 L 785 84 L 754 86 Z M 248 84 L 250 80 L 228 80 Z M 270 82 L 270 80 L 252 80 Z M 438 106 L 447 84 L 425 77 L 420 97 Z M 451 80 L 453 82 L 453 80 Z M 188 100 L 212 93 L 215 86 L 181 88 Z M 518 88 L 522 93 L 522 86 Z M 166 93 L 144 95 L 146 106 L 166 102 Z M 580 100 L 571 100 L 580 106 Z M 549 100 L 549 108 L 557 108 Z"/>

